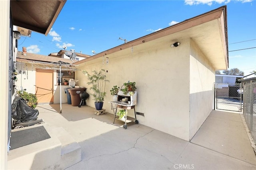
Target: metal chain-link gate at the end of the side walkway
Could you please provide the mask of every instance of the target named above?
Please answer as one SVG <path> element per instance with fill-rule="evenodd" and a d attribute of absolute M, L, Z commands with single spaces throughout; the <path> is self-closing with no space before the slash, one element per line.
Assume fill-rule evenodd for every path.
<path fill-rule="evenodd" d="M 215 84 L 214 109 L 240 111 L 243 107 L 241 84 Z"/>

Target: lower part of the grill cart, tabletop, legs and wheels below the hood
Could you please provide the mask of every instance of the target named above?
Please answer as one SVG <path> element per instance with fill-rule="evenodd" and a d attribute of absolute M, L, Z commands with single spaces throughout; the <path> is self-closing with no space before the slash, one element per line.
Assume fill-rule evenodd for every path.
<path fill-rule="evenodd" d="M 136 118 L 135 105 L 121 104 L 121 103 L 118 103 L 118 102 L 110 102 L 110 103 L 111 103 L 111 109 L 113 109 L 113 111 L 114 111 L 114 122 L 113 122 L 113 124 L 115 123 L 115 119 L 118 119 L 118 117 L 116 117 L 117 108 L 125 110 L 125 119 L 124 120 L 118 119 L 118 120 L 124 122 L 124 125 L 123 125 L 124 129 L 127 129 L 127 123 L 130 123 L 130 122 L 134 122 L 136 124 L 139 123 L 139 121 Z M 130 110 L 130 109 L 134 109 L 135 119 L 133 117 L 128 117 L 127 116 L 127 110 Z"/>

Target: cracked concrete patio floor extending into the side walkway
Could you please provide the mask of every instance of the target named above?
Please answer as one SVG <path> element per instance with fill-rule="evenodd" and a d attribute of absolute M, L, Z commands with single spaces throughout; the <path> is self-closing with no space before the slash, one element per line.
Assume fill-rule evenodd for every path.
<path fill-rule="evenodd" d="M 61 114 L 59 104 L 38 106 L 44 126 L 62 127 L 82 149 L 82 161 L 66 170 L 256 169 L 239 113 L 212 111 L 188 142 L 140 124 L 123 129 L 121 121 L 111 124 L 114 115 L 95 115 L 89 106 L 62 104 Z"/>

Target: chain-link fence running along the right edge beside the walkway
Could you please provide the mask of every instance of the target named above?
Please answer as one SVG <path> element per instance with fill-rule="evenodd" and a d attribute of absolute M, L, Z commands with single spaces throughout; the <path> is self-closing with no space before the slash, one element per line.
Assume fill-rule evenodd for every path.
<path fill-rule="evenodd" d="M 256 141 L 256 82 L 244 85 L 244 118 Z"/>

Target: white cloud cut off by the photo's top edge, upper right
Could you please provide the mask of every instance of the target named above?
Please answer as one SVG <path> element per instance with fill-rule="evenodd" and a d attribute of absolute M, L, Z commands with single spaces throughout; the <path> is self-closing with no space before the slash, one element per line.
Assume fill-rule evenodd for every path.
<path fill-rule="evenodd" d="M 225 4 L 228 4 L 231 0 L 185 0 L 185 4 L 186 5 L 198 5 L 198 4 L 207 4 L 209 6 L 212 5 L 212 3 L 216 2 L 218 4 L 222 4 L 222 3 L 225 3 Z M 245 2 L 252 2 L 252 0 L 234 0 L 234 1 L 239 1 L 239 2 L 242 2 L 242 3 L 245 3 Z"/>

